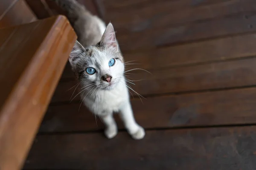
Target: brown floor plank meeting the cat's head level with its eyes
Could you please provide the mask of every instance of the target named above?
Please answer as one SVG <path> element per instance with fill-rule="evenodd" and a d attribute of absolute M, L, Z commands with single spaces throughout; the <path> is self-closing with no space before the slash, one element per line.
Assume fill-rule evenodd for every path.
<path fill-rule="evenodd" d="M 133 61 L 132 63 L 139 64 L 135 65 L 137 68 L 152 72 L 153 70 L 169 67 L 256 56 L 254 44 L 256 44 L 256 33 L 250 33 L 157 49 L 127 51 L 123 56 L 125 62 Z M 126 68 L 131 66 L 133 65 L 126 65 Z M 66 69 L 67 75 L 64 73 L 63 77 L 73 78 L 69 64 Z"/>

